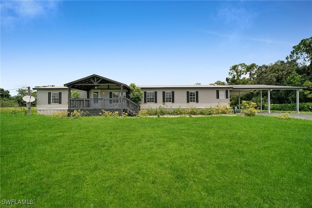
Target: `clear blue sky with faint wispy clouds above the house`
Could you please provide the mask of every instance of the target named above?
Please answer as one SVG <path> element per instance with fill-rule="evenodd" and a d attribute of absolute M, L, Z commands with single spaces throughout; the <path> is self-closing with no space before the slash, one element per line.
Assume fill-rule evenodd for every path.
<path fill-rule="evenodd" d="M 312 36 L 312 1 L 1 0 L 1 84 L 98 74 L 137 85 L 225 81 Z M 10 91 L 16 95 L 16 90 Z"/>

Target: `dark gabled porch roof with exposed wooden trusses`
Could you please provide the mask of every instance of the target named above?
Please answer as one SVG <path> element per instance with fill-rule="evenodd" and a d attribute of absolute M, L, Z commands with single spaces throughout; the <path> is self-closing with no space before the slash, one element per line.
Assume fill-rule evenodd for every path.
<path fill-rule="evenodd" d="M 123 86 L 123 89 L 130 91 L 130 87 L 127 84 L 119 83 L 117 81 L 110 80 L 96 74 L 76 80 L 71 83 L 66 83 L 64 84 L 64 86 L 84 91 L 96 89 L 96 87 L 97 89 L 120 89 L 120 87 Z"/>

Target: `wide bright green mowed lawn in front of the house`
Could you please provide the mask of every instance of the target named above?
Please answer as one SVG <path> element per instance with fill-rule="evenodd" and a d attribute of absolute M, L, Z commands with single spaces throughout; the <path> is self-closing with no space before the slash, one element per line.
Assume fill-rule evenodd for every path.
<path fill-rule="evenodd" d="M 34 114 L 0 114 L 1 200 L 32 199 L 40 208 L 312 207 L 311 121 Z"/>

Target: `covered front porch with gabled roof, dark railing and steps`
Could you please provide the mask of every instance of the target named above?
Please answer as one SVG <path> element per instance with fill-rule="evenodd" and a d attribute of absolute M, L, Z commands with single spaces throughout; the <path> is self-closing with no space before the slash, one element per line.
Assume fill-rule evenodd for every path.
<path fill-rule="evenodd" d="M 118 111 L 136 115 L 140 106 L 129 99 L 130 87 L 96 74 L 66 83 L 68 87 L 68 110 L 87 110 L 89 112 Z M 83 90 L 84 96 L 72 98 L 71 91 Z"/>

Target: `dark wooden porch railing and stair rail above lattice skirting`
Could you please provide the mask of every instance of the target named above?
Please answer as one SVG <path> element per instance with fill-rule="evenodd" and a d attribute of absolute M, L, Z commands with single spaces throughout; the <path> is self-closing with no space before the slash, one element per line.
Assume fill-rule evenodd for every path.
<path fill-rule="evenodd" d="M 136 115 L 140 106 L 128 98 L 122 99 L 70 99 L 69 110 L 126 111 Z"/>

